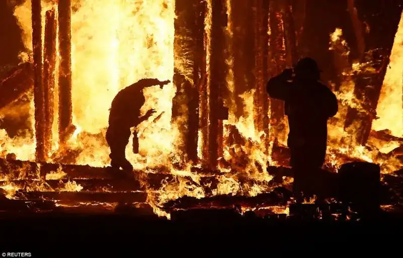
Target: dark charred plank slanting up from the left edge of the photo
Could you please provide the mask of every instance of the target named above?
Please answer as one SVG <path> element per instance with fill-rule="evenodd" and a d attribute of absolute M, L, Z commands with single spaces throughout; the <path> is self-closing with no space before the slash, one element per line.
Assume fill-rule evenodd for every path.
<path fill-rule="evenodd" d="M 0 109 L 6 107 L 34 85 L 34 66 L 22 63 L 10 70 L 0 81 Z"/>

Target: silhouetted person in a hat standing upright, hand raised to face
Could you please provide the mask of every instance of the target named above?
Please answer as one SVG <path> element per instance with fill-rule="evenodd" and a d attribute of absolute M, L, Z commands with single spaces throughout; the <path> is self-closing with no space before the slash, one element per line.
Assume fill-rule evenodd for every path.
<path fill-rule="evenodd" d="M 327 120 L 338 112 L 336 96 L 319 82 L 320 72 L 313 59 L 304 58 L 294 70 L 286 69 L 267 83 L 270 97 L 285 101 L 296 193 L 311 190 L 311 175 L 319 171 L 326 155 Z"/>

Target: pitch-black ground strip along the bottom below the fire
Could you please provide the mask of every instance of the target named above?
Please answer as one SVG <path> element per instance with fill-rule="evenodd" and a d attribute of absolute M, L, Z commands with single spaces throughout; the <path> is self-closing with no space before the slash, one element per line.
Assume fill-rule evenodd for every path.
<path fill-rule="evenodd" d="M 166 220 L 124 214 L 0 215 L 1 252 L 31 257 L 199 256 L 262 253 L 294 256 L 399 252 L 403 216 L 381 213 L 360 221 L 252 218 L 231 214 Z M 308 253 L 303 254 L 308 255 Z M 316 256 L 315 255 L 315 256 Z M 9 255 L 10 256 L 10 255 Z M 221 255 L 220 255 L 221 256 Z"/>

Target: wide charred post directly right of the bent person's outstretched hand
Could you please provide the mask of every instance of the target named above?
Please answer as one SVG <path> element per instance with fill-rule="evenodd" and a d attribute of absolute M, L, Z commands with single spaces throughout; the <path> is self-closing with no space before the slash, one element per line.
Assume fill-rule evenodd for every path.
<path fill-rule="evenodd" d="M 179 149 L 183 157 L 197 162 L 198 85 L 204 54 L 205 3 L 176 0 L 175 74 L 176 95 L 172 104 L 172 120 L 180 125 Z M 189 62 L 190 61 L 190 62 Z"/>

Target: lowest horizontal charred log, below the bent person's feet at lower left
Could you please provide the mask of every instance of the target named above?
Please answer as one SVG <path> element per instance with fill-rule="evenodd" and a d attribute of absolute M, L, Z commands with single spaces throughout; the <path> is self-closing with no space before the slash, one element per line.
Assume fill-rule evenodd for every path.
<path fill-rule="evenodd" d="M 28 200 L 73 200 L 82 202 L 146 202 L 145 192 L 21 192 Z"/>

